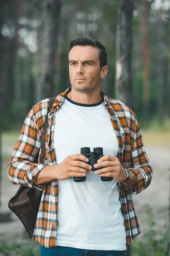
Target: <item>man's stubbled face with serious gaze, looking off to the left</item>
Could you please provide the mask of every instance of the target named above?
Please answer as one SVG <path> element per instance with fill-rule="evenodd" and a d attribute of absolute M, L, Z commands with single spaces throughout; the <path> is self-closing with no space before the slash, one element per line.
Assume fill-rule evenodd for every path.
<path fill-rule="evenodd" d="M 102 70 L 99 49 L 92 46 L 75 46 L 69 52 L 68 62 L 70 82 L 74 90 L 91 93 L 100 87 Z"/>

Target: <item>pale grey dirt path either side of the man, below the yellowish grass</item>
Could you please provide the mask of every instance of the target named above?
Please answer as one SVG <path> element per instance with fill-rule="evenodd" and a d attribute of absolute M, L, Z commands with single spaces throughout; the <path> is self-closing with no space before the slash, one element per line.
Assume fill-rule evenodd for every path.
<path fill-rule="evenodd" d="M 3 147 L 3 154 L 10 155 L 12 147 Z M 150 186 L 138 195 L 133 195 L 133 204 L 136 210 L 136 215 L 139 220 L 139 224 L 144 233 L 146 223 L 143 221 L 144 205 L 148 204 L 152 210 L 156 219 L 156 228 L 162 230 L 164 224 L 168 220 L 168 204 L 169 204 L 169 183 L 170 183 L 170 149 L 163 146 L 145 146 L 145 150 L 149 157 L 150 163 L 153 167 L 153 179 Z M 4 167 L 6 168 L 6 166 Z M 19 186 L 12 185 L 8 180 L 7 173 L 3 172 L 3 183 L 1 187 L 1 211 L 9 211 L 8 201 L 17 191 Z M 0 223 L 0 236 L 11 236 L 16 233 L 21 233 L 24 228 L 18 218 L 11 213 L 13 221 L 9 223 Z M 141 235 L 140 235 L 141 236 Z"/>

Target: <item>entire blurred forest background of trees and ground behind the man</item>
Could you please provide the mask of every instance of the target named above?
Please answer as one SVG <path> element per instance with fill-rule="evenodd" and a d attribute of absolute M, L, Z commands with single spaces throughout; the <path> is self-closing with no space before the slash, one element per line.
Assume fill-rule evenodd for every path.
<path fill-rule="evenodd" d="M 82 35 L 106 47 L 102 90 L 136 113 L 153 167 L 150 186 L 132 196 L 142 233 L 127 254 L 167 256 L 170 0 L 0 0 L 0 256 L 40 255 L 8 209 L 18 186 L 7 165 L 32 106 L 71 86 L 68 44 Z"/>

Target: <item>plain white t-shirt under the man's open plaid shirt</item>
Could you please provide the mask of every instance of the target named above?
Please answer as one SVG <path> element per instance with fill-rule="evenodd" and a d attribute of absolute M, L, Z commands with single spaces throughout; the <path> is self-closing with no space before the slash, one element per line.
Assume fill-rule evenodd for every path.
<path fill-rule="evenodd" d="M 102 147 L 103 154 L 116 157 L 119 151 L 103 100 L 79 104 L 68 97 L 55 112 L 54 147 L 57 164 L 80 148 Z M 124 219 L 119 183 L 101 181 L 94 172 L 86 181 L 73 177 L 58 180 L 56 244 L 87 250 L 126 250 Z"/>

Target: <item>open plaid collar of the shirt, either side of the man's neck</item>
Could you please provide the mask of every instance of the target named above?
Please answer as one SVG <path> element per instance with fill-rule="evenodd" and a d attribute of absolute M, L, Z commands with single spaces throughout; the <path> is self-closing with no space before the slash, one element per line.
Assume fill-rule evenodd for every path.
<path fill-rule="evenodd" d="M 59 93 L 59 95 L 57 95 L 57 97 L 55 99 L 55 102 L 52 105 L 51 112 L 59 110 L 59 108 L 61 107 L 62 103 L 65 100 L 65 96 L 67 96 L 67 94 L 70 91 L 71 91 L 71 87 L 69 87 L 63 93 Z M 111 104 L 111 100 L 108 98 L 108 96 L 103 91 L 100 91 L 100 94 L 101 94 L 102 98 L 104 99 L 105 107 L 106 108 L 111 108 L 112 110 L 114 110 L 113 107 L 112 107 L 113 103 Z"/>

